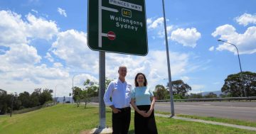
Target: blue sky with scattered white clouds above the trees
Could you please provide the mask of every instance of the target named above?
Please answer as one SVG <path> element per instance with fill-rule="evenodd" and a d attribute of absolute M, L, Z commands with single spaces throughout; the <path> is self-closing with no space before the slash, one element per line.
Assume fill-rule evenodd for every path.
<path fill-rule="evenodd" d="M 256 1 L 166 0 L 172 79 L 183 79 L 193 93 L 217 91 L 228 74 L 256 72 Z M 0 89 L 32 92 L 57 89 L 68 96 L 74 85 L 98 79 L 98 52 L 87 47 L 87 1 L 0 0 Z M 166 85 L 167 66 L 161 1 L 146 1 L 149 54 L 106 53 L 106 77 L 128 68 L 134 83 L 144 72 L 149 86 Z"/>

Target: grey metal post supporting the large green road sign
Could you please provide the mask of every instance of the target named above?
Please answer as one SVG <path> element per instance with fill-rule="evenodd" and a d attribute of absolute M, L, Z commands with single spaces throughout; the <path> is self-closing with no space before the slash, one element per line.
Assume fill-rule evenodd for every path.
<path fill-rule="evenodd" d="M 99 58 L 100 58 L 100 66 L 99 66 L 99 78 L 100 78 L 100 87 L 99 87 L 99 118 L 100 118 L 100 129 L 105 128 L 106 124 L 106 113 L 105 113 L 105 103 L 103 100 L 103 96 L 105 94 L 105 52 L 100 51 L 99 52 Z"/>

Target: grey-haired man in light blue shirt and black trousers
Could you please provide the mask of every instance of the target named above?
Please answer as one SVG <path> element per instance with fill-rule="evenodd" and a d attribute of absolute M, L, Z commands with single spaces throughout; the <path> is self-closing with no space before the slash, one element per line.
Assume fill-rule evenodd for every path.
<path fill-rule="evenodd" d="M 119 78 L 110 82 L 107 86 L 104 101 L 106 106 L 112 108 L 113 134 L 127 134 L 131 121 L 130 94 L 132 84 L 125 81 L 127 67 L 120 66 L 118 74 Z"/>

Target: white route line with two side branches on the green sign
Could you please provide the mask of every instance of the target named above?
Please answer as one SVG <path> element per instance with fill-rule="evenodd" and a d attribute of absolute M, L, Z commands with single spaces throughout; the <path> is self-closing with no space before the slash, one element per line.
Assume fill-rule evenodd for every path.
<path fill-rule="evenodd" d="M 107 33 L 102 33 L 102 10 L 106 10 L 106 11 L 112 11 L 117 13 L 118 10 L 117 9 L 112 9 L 112 8 L 108 8 L 105 6 L 102 6 L 102 0 L 99 0 L 99 31 L 98 31 L 98 40 L 99 40 L 99 48 L 102 48 L 102 37 L 107 37 Z"/>

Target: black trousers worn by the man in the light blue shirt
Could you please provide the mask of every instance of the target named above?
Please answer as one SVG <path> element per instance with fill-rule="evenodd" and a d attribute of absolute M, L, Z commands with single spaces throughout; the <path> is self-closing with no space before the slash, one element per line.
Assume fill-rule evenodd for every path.
<path fill-rule="evenodd" d="M 118 108 L 118 113 L 112 112 L 113 134 L 127 134 L 131 121 L 131 108 Z"/>

